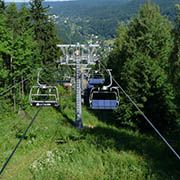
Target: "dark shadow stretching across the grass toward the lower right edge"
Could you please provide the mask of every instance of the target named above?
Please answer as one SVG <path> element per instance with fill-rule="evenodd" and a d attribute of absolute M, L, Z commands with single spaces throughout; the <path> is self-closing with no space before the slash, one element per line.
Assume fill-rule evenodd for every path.
<path fill-rule="evenodd" d="M 132 134 L 131 131 L 118 130 L 112 127 L 94 127 L 85 129 L 84 136 L 91 135 L 89 143 L 97 149 L 114 149 L 115 151 L 131 151 L 148 162 L 149 167 L 156 173 L 168 177 L 180 177 L 180 162 L 165 145 L 155 138 Z M 171 178 L 172 179 L 172 178 Z"/>

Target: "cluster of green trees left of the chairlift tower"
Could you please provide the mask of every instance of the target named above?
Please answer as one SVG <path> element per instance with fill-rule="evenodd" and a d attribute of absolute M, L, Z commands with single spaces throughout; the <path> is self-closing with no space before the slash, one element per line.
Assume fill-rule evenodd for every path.
<path fill-rule="evenodd" d="M 23 5 L 19 10 L 15 3 L 6 6 L 4 1 L 0 6 L 0 90 L 2 92 L 22 81 L 7 95 L 14 99 L 15 106 L 29 91 L 27 85 L 34 70 L 53 64 L 58 57 L 56 44 L 59 40 L 53 17 L 47 14 L 41 1 L 34 1 L 30 6 L 28 9 Z"/>

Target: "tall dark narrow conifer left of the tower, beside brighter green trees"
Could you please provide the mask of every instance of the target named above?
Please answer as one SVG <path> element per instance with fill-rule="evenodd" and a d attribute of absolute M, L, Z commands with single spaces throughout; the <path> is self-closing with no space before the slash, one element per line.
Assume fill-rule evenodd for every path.
<path fill-rule="evenodd" d="M 57 59 L 58 43 L 55 24 L 48 14 L 48 7 L 43 7 L 43 0 L 32 0 L 30 12 L 35 32 L 35 40 L 39 44 L 40 56 L 44 65 Z"/>

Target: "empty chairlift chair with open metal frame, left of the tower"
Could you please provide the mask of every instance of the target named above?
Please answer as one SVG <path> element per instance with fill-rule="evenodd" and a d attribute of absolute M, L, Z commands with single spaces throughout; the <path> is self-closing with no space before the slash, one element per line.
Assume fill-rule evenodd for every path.
<path fill-rule="evenodd" d="M 41 69 L 40 69 L 41 71 Z M 39 82 L 40 71 L 37 76 L 37 85 L 32 86 L 29 102 L 32 106 L 59 106 L 59 92 L 56 86 L 48 86 Z"/>

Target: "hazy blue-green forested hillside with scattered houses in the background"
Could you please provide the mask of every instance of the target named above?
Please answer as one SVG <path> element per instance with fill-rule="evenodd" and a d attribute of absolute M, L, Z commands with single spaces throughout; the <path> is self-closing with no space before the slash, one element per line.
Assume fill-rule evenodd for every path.
<path fill-rule="evenodd" d="M 73 2 L 45 2 L 50 5 L 51 13 L 59 15 L 57 20 L 60 36 L 65 42 L 84 41 L 95 34 L 101 38 L 112 38 L 116 34 L 117 25 L 134 16 L 146 0 L 93 0 Z M 179 0 L 153 0 L 158 4 L 163 15 L 174 19 L 175 4 Z M 64 29 L 66 29 L 64 31 Z M 69 32 L 74 36 L 68 37 Z"/>

